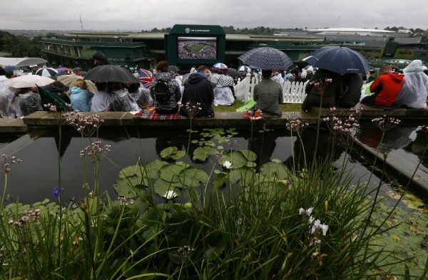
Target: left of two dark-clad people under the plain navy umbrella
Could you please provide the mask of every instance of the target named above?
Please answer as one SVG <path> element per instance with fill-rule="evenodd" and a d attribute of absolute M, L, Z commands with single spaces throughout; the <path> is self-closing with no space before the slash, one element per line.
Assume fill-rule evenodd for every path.
<path fill-rule="evenodd" d="M 318 69 L 305 87 L 307 94 L 302 103 L 302 110 L 311 107 L 330 108 L 343 93 L 342 76 L 326 70 Z"/>

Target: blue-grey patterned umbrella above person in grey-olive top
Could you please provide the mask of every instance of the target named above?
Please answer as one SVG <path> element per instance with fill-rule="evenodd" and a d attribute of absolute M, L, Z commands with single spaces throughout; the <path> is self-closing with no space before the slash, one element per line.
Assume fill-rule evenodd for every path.
<path fill-rule="evenodd" d="M 292 66 L 291 59 L 284 52 L 269 47 L 253 48 L 238 57 L 238 59 L 245 64 L 262 70 L 285 70 Z"/>

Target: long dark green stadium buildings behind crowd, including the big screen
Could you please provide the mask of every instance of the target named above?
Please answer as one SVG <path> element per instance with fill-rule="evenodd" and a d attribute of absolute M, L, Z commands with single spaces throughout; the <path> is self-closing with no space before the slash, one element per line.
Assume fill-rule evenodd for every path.
<path fill-rule="evenodd" d="M 220 26 L 175 25 L 170 33 L 72 32 L 49 36 L 41 42 L 51 66 L 83 69 L 93 67 L 94 51 L 131 70 L 154 68 L 164 59 L 183 68 L 213 61 L 233 67 L 238 56 L 260 46 L 280 49 L 293 61 L 300 61 L 321 46 L 332 45 L 350 47 L 367 58 L 428 59 L 427 43 L 422 43 L 420 37 L 367 28 L 322 28 L 270 36 L 225 34 Z"/>

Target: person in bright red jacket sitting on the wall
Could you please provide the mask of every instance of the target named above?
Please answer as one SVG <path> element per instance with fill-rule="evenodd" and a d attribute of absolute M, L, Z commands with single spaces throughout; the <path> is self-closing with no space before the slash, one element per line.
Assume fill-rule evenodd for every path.
<path fill-rule="evenodd" d="M 404 75 L 392 73 L 390 65 L 383 65 L 379 69 L 379 76 L 370 85 L 373 95 L 362 98 L 361 103 L 382 108 L 394 108 L 399 91 L 402 89 Z"/>

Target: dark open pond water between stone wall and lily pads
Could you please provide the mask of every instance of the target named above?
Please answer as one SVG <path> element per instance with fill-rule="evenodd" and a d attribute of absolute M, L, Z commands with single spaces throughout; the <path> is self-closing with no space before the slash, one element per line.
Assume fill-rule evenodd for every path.
<path fill-rule="evenodd" d="M 417 125 L 422 125 L 422 123 Z M 422 148 L 428 145 L 428 142 L 427 139 L 424 139 L 425 135 L 419 135 L 420 133 L 416 132 L 417 125 L 414 123 L 400 124 L 385 135 L 384 143 L 389 143 L 389 147 L 394 149 L 392 153 L 406 157 L 407 161 L 412 162 L 414 167 L 416 167 L 419 159 L 422 159 L 422 165 L 419 168 L 428 172 L 427 157 L 422 158 L 421 152 Z M 247 149 L 250 145 L 250 150 L 253 150 L 257 155 L 257 160 L 255 161 L 257 164 L 256 169 L 271 159 L 280 160 L 288 166 L 291 166 L 293 162 L 296 164 L 302 162 L 300 157 L 302 144 L 305 146 L 305 153 L 309 158 L 313 155 L 315 149 L 315 130 L 305 130 L 302 135 L 302 142 L 290 135 L 290 132 L 285 128 L 267 129 L 267 131 L 255 129 L 251 142 L 249 129 L 218 129 L 216 133 L 211 133 L 211 135 L 201 128 L 198 128 L 198 130 L 197 133 L 192 133 L 191 135 L 193 142 L 190 144 L 190 155 L 193 155 L 195 148 L 199 147 L 199 145 L 205 145 L 206 142 L 217 149 L 218 152 L 230 149 Z M 362 133 L 357 135 L 357 138 L 365 142 L 366 145 L 377 147 L 380 138 L 377 130 L 371 123 L 365 123 L 362 125 Z M 219 131 L 223 131 L 223 134 L 218 133 Z M 23 138 L 29 138 L 29 135 L 25 135 Z M 138 130 L 136 128 L 105 128 L 101 130 L 99 139 L 103 145 L 112 146 L 111 152 L 101 160 L 101 190 L 107 191 L 111 197 L 116 197 L 112 185 L 116 182 L 120 170 L 130 165 L 136 165 L 138 160 L 144 163 L 149 160 L 161 159 L 159 154 L 165 147 L 175 146 L 178 147 L 178 150 L 186 150 L 188 132 L 185 129 L 177 130 L 171 128 L 163 128 L 162 130 L 154 130 L 153 128 L 150 130 L 147 128 L 139 128 Z M 331 145 L 328 139 L 327 131 L 322 130 L 317 157 L 325 158 L 330 154 L 329 147 Z M 9 142 L 11 140 L 13 138 L 10 138 Z M 26 141 L 21 140 L 21 142 Z M 40 133 L 31 141 L 27 139 L 27 142 L 21 144 L 21 147 L 12 145 L 14 143 L 6 145 L 8 141 L 4 141 L 3 147 L 0 147 L 1 153 L 6 155 L 13 154 L 23 160 L 23 162 L 12 166 L 12 170 L 8 175 L 7 193 L 15 201 L 29 203 L 41 201 L 46 197 L 52 198 L 52 190 L 58 186 L 58 142 L 56 130 Z M 75 130 L 63 132 L 60 151 L 61 181 L 66 189 L 64 196 L 67 200 L 71 197 L 82 197 L 84 195 L 85 192 L 82 187 L 83 174 L 86 173 L 87 182 L 93 185 L 91 162 L 86 162 L 86 170 L 83 170 L 83 160 L 79 156 L 80 151 L 87 145 L 89 145 L 88 139 L 82 139 Z M 295 155 L 294 160 L 293 154 Z M 332 164 L 337 167 L 342 165 L 346 156 L 347 154 L 342 145 L 335 145 L 335 151 L 331 159 Z M 364 162 L 364 159 L 357 157 L 355 155 L 350 157 L 348 167 L 352 168 L 355 182 L 358 180 L 360 182 L 367 181 L 370 175 L 367 167 L 370 167 L 370 163 Z M 180 161 L 191 163 L 193 166 L 207 172 L 210 172 L 213 167 L 213 160 L 198 162 L 197 160 L 192 160 L 192 157 L 188 155 L 180 158 Z M 218 166 L 218 169 L 221 169 L 221 167 Z M 379 182 L 379 179 L 376 176 L 372 177 L 372 185 L 377 185 L 377 182 Z M 1 177 L 0 183 L 4 184 L 3 177 Z"/>

